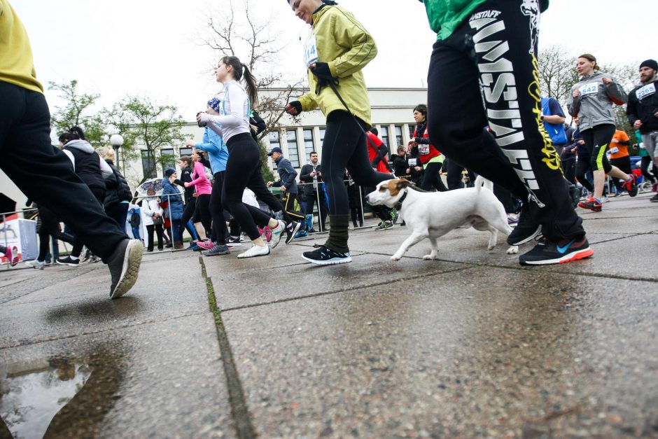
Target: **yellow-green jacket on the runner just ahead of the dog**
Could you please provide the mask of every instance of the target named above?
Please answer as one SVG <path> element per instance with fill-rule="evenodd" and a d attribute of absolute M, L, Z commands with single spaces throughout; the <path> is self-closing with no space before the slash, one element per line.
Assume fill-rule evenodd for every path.
<path fill-rule="evenodd" d="M 329 64 L 338 78 L 337 90 L 351 113 L 370 127 L 370 99 L 361 69 L 377 55 L 377 46 L 363 25 L 340 6 L 325 6 L 313 15 L 311 39 L 315 39 L 318 62 Z M 319 108 L 326 116 L 346 111 L 334 91 L 323 87 L 316 95 L 318 78 L 308 70 L 310 92 L 299 98 L 303 111 Z"/>

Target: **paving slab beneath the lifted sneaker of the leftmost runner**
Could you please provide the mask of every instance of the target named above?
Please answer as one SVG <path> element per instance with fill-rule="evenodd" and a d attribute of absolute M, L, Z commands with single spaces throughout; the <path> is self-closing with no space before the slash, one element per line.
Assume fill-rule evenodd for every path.
<path fill-rule="evenodd" d="M 0 348 L 208 312 L 197 257 L 144 263 L 137 284 L 120 300 L 109 300 L 109 270 L 94 265 L 34 270 L 34 281 L 21 288 L 38 289 L 0 306 Z M 15 286 L 0 293 L 6 288 Z"/>

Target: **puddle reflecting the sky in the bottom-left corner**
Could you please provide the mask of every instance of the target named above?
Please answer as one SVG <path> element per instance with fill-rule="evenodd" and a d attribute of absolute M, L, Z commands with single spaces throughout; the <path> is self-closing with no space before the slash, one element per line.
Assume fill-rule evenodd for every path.
<path fill-rule="evenodd" d="M 0 368 L 0 438 L 92 437 L 120 398 L 122 361 L 106 352 Z"/>

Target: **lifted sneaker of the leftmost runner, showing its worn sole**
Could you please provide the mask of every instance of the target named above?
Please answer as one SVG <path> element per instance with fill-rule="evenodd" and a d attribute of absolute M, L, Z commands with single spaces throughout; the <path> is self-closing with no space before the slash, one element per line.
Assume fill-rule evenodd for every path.
<path fill-rule="evenodd" d="M 107 260 L 112 276 L 111 299 L 120 298 L 135 284 L 142 253 L 144 245 L 139 239 L 124 239 L 116 246 Z"/>

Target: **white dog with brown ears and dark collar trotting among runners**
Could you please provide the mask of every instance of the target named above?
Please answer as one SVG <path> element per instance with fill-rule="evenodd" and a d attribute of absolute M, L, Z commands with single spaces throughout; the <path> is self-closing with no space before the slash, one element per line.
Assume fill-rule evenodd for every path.
<path fill-rule="evenodd" d="M 384 204 L 394 207 L 404 218 L 412 235 L 402 242 L 400 249 L 391 256 L 400 260 L 409 247 L 428 238 L 432 244 L 425 260 L 436 259 L 436 239 L 454 228 L 472 227 L 488 230 L 487 250 L 493 250 L 498 239 L 498 231 L 509 235 L 512 228 L 507 224 L 503 204 L 493 195 L 493 183 L 478 176 L 474 188 L 449 190 L 448 192 L 424 192 L 416 189 L 414 183 L 405 179 L 382 181 L 377 188 L 365 196 L 368 204 Z M 507 254 L 518 253 L 518 246 L 511 246 Z"/>

